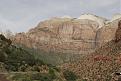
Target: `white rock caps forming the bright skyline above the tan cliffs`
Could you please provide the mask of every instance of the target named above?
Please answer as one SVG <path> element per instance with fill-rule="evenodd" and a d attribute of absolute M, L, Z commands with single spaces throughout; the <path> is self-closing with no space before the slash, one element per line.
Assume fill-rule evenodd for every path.
<path fill-rule="evenodd" d="M 54 17 L 53 19 L 75 19 L 71 16 L 68 16 L 68 15 L 65 15 L 65 16 L 62 16 L 62 17 Z M 76 19 L 87 19 L 87 20 L 92 20 L 92 21 L 95 21 L 99 24 L 98 28 L 101 28 L 103 27 L 105 24 L 107 23 L 110 23 L 110 22 L 113 22 L 114 20 L 117 20 L 121 18 L 121 14 L 115 14 L 112 19 L 108 20 L 106 18 L 103 18 L 103 17 L 99 17 L 99 16 L 96 16 L 96 15 L 93 15 L 93 14 L 90 14 L 90 13 L 86 13 L 86 14 L 82 14 L 80 17 L 76 18 Z"/>

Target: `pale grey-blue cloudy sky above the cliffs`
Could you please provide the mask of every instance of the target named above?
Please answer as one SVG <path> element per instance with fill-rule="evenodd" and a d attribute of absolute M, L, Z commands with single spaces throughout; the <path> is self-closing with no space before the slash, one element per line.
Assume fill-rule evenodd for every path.
<path fill-rule="evenodd" d="M 121 0 L 0 0 L 0 31 L 26 32 L 52 17 L 91 13 L 110 19 Z"/>

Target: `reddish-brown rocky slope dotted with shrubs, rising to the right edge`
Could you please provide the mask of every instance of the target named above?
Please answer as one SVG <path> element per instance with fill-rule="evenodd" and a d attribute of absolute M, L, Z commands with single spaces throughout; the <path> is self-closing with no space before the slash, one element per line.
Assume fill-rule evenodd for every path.
<path fill-rule="evenodd" d="M 121 71 L 121 20 L 114 39 L 85 56 L 80 62 L 65 63 L 63 70 L 73 71 L 81 80 L 117 81 L 116 72 Z"/>

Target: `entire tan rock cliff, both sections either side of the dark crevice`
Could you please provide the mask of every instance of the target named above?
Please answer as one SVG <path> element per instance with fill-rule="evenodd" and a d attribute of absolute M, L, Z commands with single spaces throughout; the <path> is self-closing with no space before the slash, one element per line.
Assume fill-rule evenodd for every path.
<path fill-rule="evenodd" d="M 106 24 L 106 19 L 87 17 L 52 18 L 27 33 L 17 34 L 13 41 L 48 52 L 88 54 L 114 38 L 118 20 Z"/>

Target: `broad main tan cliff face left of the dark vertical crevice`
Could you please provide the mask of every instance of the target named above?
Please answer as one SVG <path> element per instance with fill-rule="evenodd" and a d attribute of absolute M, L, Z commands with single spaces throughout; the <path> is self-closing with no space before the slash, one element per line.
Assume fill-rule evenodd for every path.
<path fill-rule="evenodd" d="M 54 18 L 39 23 L 27 33 L 17 34 L 14 41 L 45 51 L 83 54 L 95 49 L 98 26 L 92 20 Z"/>

